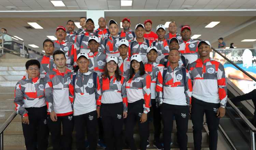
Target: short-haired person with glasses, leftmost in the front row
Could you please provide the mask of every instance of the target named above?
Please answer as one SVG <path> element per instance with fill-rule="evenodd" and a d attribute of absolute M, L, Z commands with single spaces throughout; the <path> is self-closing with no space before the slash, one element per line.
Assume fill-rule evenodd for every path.
<path fill-rule="evenodd" d="M 22 117 L 26 149 L 46 150 L 49 130 L 44 78 L 39 76 L 40 62 L 31 59 L 25 66 L 27 75 L 17 82 L 14 90 L 15 110 Z"/>

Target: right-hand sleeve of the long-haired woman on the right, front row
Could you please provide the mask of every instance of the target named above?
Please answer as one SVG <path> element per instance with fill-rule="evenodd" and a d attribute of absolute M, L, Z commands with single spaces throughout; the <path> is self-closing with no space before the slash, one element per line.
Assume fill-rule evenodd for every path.
<path fill-rule="evenodd" d="M 146 75 L 146 77 L 142 81 L 142 85 L 143 85 L 143 95 L 144 95 L 143 112 L 147 114 L 148 112 L 150 112 L 150 106 L 151 106 L 151 90 L 150 90 L 151 76 L 150 75 L 148 74 Z"/>

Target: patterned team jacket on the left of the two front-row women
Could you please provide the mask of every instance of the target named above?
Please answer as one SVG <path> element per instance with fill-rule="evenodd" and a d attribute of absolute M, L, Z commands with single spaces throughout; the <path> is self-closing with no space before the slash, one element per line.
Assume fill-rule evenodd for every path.
<path fill-rule="evenodd" d="M 127 111 L 127 96 L 125 88 L 125 78 L 121 76 L 121 80 L 116 80 L 116 77 L 108 78 L 102 77 L 100 79 L 101 86 L 101 103 L 113 104 L 123 102 L 124 111 Z"/>

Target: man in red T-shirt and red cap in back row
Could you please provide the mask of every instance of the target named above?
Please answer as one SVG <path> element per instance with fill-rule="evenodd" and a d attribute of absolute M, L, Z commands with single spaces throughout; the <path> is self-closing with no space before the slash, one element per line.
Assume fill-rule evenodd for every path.
<path fill-rule="evenodd" d="M 147 19 L 144 21 L 145 34 L 144 37 L 150 42 L 157 41 L 157 34 L 152 31 L 152 21 Z"/>

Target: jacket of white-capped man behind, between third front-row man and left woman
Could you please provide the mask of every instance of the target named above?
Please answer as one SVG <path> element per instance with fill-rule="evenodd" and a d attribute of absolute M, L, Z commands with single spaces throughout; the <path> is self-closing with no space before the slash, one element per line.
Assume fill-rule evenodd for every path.
<path fill-rule="evenodd" d="M 89 71 L 96 72 L 99 77 L 104 72 L 104 66 L 106 64 L 106 54 L 96 51 L 95 53 L 89 52 Z"/>

